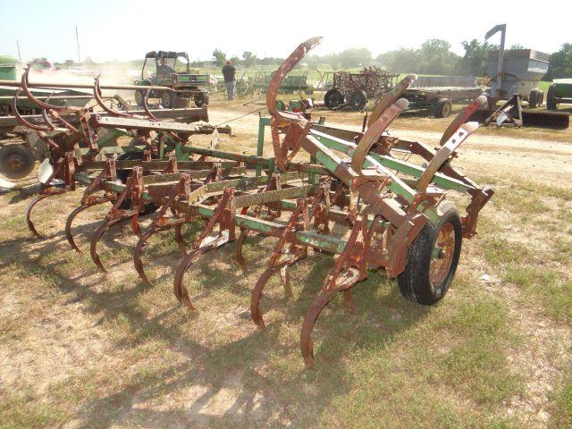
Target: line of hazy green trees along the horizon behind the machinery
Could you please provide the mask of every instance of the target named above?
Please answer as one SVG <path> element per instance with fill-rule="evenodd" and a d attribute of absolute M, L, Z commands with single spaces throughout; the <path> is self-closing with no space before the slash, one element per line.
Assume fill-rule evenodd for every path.
<path fill-rule="evenodd" d="M 333 70 L 381 65 L 391 72 L 414 72 L 420 74 L 441 75 L 486 75 L 486 55 L 488 51 L 499 49 L 498 45 L 481 43 L 477 39 L 461 42 L 464 55 L 457 55 L 450 50 L 450 43 L 439 38 L 430 38 L 418 48 L 400 47 L 393 51 L 384 52 L 374 57 L 368 49 L 352 47 L 340 53 L 327 55 L 308 55 L 304 63 L 308 67 L 327 65 Z M 521 45 L 512 45 L 509 49 L 524 49 Z M 218 66 L 223 66 L 230 59 L 236 65 L 251 67 L 256 65 L 278 65 L 282 58 L 258 58 L 252 52 L 245 51 L 240 57 L 227 55 L 219 48 L 214 49 L 213 60 Z M 194 62 L 194 66 L 206 65 L 212 62 Z M 549 71 L 544 80 L 557 78 L 572 78 L 572 44 L 565 43 L 559 51 L 551 54 Z"/>

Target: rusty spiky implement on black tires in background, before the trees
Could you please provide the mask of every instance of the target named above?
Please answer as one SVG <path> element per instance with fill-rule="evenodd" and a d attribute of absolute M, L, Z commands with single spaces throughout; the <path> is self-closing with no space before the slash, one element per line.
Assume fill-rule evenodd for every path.
<path fill-rule="evenodd" d="M 332 88 L 325 93 L 324 104 L 332 110 L 349 106 L 356 111 L 362 110 L 368 100 L 377 101 L 383 97 L 400 76 L 376 66 L 365 67 L 359 73 L 334 71 L 332 74 Z M 324 73 L 324 76 L 328 75 Z"/>

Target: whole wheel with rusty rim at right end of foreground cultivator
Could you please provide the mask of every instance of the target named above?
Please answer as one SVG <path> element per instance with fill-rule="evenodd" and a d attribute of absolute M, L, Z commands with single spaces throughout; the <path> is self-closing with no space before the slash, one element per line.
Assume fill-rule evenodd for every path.
<path fill-rule="evenodd" d="M 405 271 L 397 278 L 404 298 L 427 306 L 442 299 L 449 290 L 463 240 L 457 207 L 445 201 L 438 206 L 438 212 L 441 214 L 439 222 L 434 226 L 426 223 L 409 246 Z M 451 238 L 454 239 L 452 244 Z M 442 254 L 434 257 L 437 242 L 442 244 Z"/>

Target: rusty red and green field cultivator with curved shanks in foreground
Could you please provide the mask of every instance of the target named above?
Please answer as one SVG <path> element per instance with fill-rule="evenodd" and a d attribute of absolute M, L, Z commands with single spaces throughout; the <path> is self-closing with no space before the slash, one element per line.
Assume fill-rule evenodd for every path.
<path fill-rule="evenodd" d="M 65 226 L 71 248 L 80 251 L 72 236 L 74 217 L 89 207 L 109 204 L 91 236 L 92 259 L 106 270 L 97 253 L 98 240 L 114 224 L 130 220 L 139 237 L 133 262 L 141 279 L 150 283 L 142 252 L 154 234 L 172 230 L 181 250 L 173 290 L 190 309 L 195 304 L 185 274 L 199 257 L 234 242 L 237 262 L 246 265 L 241 249 L 248 236 L 273 237 L 272 255 L 252 290 L 251 315 L 260 328 L 265 327 L 261 299 L 268 280 L 280 273 L 286 293 L 291 294 L 292 265 L 306 258 L 309 249 L 332 254 L 335 262 L 300 332 L 307 366 L 314 363 L 311 332 L 320 312 L 338 292 L 353 307 L 352 287 L 372 271 L 385 270 L 397 278 L 407 299 L 425 305 L 442 299 L 458 265 L 462 238 L 475 235 L 478 213 L 492 197 L 492 189 L 479 187 L 450 166 L 458 147 L 478 127 L 467 122 L 468 117 L 486 100 L 479 97 L 467 105 L 436 149 L 388 131 L 407 108 L 400 94 L 415 76 L 401 80 L 382 97 L 363 133 L 278 110 L 276 95 L 282 80 L 320 41 L 311 38 L 299 45 L 273 74 L 266 95 L 270 117 L 259 120 L 256 156 L 193 145 L 195 134 L 213 128 L 157 121 L 145 103 L 146 117 L 77 111 L 80 125 L 75 128 L 63 121 L 59 108 L 37 100 L 46 119 L 38 132 L 51 156 L 39 173 L 40 195 L 26 214 L 30 230 L 39 235 L 30 216 L 41 199 L 85 185 L 80 206 Z M 263 156 L 267 128 L 273 156 Z M 122 147 L 99 147 L 97 135 L 105 129 L 128 130 L 139 144 L 127 152 Z M 418 166 L 412 159 L 426 165 Z M 445 200 L 452 190 L 467 195 L 466 213 L 460 214 Z M 144 228 L 140 219 L 145 215 L 152 220 Z M 187 246 L 181 227 L 198 221 L 205 224 Z"/>

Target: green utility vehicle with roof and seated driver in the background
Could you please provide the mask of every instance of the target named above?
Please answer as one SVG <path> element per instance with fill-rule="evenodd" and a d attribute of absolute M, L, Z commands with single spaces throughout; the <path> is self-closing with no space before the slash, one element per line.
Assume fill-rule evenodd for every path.
<path fill-rule="evenodd" d="M 184 72 L 178 71 L 184 68 Z M 192 98 L 197 107 L 208 104 L 210 84 L 208 74 L 190 72 L 189 55 L 186 52 L 151 51 L 145 55 L 141 69 L 141 80 L 135 85 L 159 85 L 172 88 L 172 91 L 149 91 L 148 98 L 160 98 L 164 108 L 187 107 Z M 135 102 L 143 105 L 144 90 L 135 91 Z"/>

